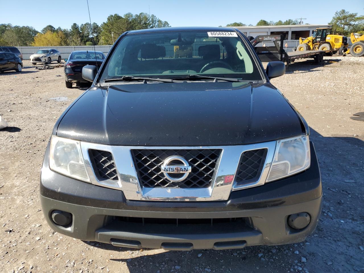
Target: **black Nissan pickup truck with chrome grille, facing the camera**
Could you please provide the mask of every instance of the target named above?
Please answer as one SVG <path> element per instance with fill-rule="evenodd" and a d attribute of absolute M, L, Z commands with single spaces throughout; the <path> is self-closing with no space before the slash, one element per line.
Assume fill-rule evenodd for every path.
<path fill-rule="evenodd" d="M 186 53 L 187 52 L 187 53 Z M 48 224 L 128 248 L 300 242 L 321 211 L 309 127 L 234 28 L 123 33 L 54 126 L 41 169 Z"/>

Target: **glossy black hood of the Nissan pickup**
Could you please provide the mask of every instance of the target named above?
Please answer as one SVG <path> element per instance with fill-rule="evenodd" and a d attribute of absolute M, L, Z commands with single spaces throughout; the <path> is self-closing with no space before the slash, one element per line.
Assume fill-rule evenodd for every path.
<path fill-rule="evenodd" d="M 219 146 L 302 134 L 297 112 L 270 83 L 123 83 L 92 87 L 54 134 L 107 145 Z"/>

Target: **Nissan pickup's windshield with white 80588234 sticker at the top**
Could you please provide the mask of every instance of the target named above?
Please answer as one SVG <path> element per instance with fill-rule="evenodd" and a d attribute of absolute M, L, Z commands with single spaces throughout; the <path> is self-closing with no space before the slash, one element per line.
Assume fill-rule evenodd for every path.
<path fill-rule="evenodd" d="M 126 35 L 112 52 L 100 79 L 122 76 L 183 78 L 192 74 L 262 79 L 246 45 L 233 31 Z"/>

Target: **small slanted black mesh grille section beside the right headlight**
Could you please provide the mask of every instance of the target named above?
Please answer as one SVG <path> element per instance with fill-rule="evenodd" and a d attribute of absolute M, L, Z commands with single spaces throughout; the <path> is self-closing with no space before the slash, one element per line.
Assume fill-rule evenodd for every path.
<path fill-rule="evenodd" d="M 267 151 L 267 149 L 257 149 L 242 153 L 236 174 L 237 184 L 249 183 L 260 177 Z"/>

